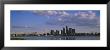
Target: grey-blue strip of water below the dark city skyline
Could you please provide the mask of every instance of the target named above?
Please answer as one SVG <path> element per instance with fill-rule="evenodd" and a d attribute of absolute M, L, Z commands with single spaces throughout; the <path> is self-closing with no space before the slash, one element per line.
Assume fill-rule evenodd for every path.
<path fill-rule="evenodd" d="M 16 38 L 25 40 L 100 40 L 100 36 L 31 36 Z"/>

